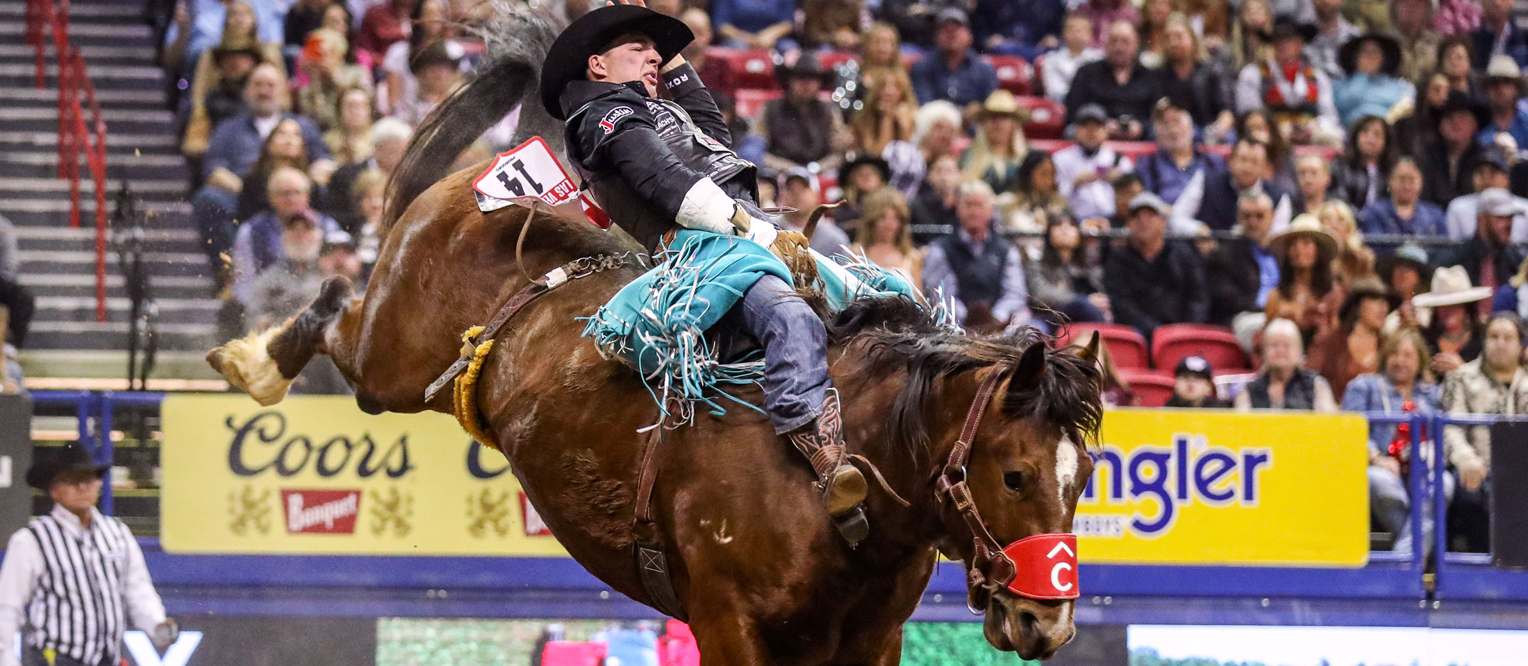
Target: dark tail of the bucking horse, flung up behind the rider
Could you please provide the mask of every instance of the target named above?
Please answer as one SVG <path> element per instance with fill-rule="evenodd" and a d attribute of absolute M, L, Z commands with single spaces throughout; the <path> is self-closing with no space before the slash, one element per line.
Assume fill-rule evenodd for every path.
<path fill-rule="evenodd" d="M 497 2 L 494 18 L 478 34 L 487 46 L 472 79 L 457 89 L 425 118 L 408 142 L 388 185 L 387 209 L 380 235 L 397 221 L 410 202 L 449 176 L 451 163 L 472 145 L 483 131 L 500 122 L 521 99 L 516 142 L 541 134 L 553 147 L 562 147 L 561 124 L 544 108 L 536 95 L 541 61 L 556 40 L 561 26 L 545 11 L 533 11 L 520 3 Z"/>

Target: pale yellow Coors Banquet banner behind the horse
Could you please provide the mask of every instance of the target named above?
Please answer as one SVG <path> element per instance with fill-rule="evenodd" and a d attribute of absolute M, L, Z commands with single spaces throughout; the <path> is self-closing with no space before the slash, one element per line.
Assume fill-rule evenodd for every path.
<path fill-rule="evenodd" d="M 565 554 L 497 451 L 348 396 L 170 396 L 162 544 L 180 553 Z"/>

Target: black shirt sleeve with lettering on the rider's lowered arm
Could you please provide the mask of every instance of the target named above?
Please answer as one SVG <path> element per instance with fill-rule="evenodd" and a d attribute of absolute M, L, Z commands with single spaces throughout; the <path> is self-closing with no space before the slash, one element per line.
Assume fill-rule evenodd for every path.
<path fill-rule="evenodd" d="M 669 218 L 704 174 L 686 166 L 659 137 L 652 112 L 636 93 L 607 95 L 588 102 L 575 116 L 584 168 L 616 173 L 637 192 L 646 194 Z"/>

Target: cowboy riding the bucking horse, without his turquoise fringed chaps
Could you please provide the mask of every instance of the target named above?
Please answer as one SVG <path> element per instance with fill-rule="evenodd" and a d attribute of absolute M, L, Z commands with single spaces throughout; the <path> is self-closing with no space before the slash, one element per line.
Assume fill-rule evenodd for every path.
<path fill-rule="evenodd" d="M 678 228 L 769 247 L 775 225 L 756 203 L 755 166 L 732 151 L 715 99 L 678 55 L 692 40 L 685 23 L 643 0 L 607 3 L 547 52 L 542 104 L 567 121 L 567 157 L 584 188 L 649 252 Z M 723 321 L 764 348 L 764 408 L 775 432 L 810 460 L 839 533 L 862 541 L 866 483 L 843 448 L 822 319 L 788 283 L 764 275 Z"/>

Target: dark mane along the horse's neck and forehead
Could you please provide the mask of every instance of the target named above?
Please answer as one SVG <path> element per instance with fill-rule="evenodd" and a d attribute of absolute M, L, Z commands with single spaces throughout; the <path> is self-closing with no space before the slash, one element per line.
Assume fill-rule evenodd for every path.
<path fill-rule="evenodd" d="M 929 448 L 929 412 L 940 379 L 996 364 L 1016 364 L 1030 345 L 1051 338 L 1033 327 L 1008 336 L 979 338 L 952 333 L 906 298 L 869 298 L 850 304 L 828 327 L 834 342 L 862 345 L 872 373 L 908 374 L 892 402 L 895 440 L 912 454 Z M 1008 391 L 1002 414 L 1041 419 L 1060 428 L 1073 441 L 1094 443 L 1103 419 L 1097 364 L 1068 350 L 1047 350 L 1047 371 L 1038 386 Z"/>

